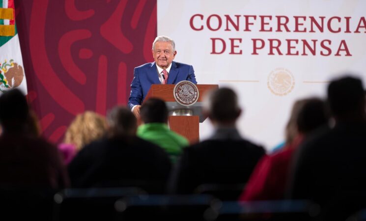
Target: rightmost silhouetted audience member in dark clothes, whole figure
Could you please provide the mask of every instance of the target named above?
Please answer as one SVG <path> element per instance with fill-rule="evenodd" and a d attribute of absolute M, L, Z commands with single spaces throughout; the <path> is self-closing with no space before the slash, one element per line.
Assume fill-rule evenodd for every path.
<path fill-rule="evenodd" d="M 366 206 L 366 113 L 361 80 L 332 81 L 328 103 L 335 125 L 298 148 L 289 194 L 319 203 L 324 220 L 345 220 Z"/>

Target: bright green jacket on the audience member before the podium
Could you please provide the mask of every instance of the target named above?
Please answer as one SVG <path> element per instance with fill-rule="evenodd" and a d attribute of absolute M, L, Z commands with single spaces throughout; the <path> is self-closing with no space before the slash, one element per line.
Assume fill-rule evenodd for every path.
<path fill-rule="evenodd" d="M 187 138 L 169 130 L 164 123 L 142 124 L 137 130 L 137 136 L 162 147 L 175 163 L 182 153 L 182 149 L 189 145 Z"/>

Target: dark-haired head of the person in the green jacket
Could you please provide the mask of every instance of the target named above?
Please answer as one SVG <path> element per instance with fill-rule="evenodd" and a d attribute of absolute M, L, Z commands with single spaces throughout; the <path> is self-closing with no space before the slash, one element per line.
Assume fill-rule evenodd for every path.
<path fill-rule="evenodd" d="M 167 123 L 168 108 L 165 102 L 158 98 L 150 98 L 143 102 L 140 108 L 143 123 Z"/>

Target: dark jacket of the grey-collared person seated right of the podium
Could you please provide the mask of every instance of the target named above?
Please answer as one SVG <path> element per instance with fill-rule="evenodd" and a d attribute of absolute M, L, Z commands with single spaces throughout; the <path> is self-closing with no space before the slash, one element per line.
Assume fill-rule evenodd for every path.
<path fill-rule="evenodd" d="M 169 191 L 193 193 L 200 184 L 246 183 L 264 154 L 262 147 L 244 139 L 211 139 L 187 147 L 172 174 Z"/>

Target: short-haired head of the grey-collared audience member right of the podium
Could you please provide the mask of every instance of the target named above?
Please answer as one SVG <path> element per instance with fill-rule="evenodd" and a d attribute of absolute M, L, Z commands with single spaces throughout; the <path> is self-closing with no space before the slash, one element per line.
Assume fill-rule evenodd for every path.
<path fill-rule="evenodd" d="M 238 97 L 227 87 L 208 92 L 205 96 L 204 114 L 214 125 L 234 126 L 241 114 Z"/>

